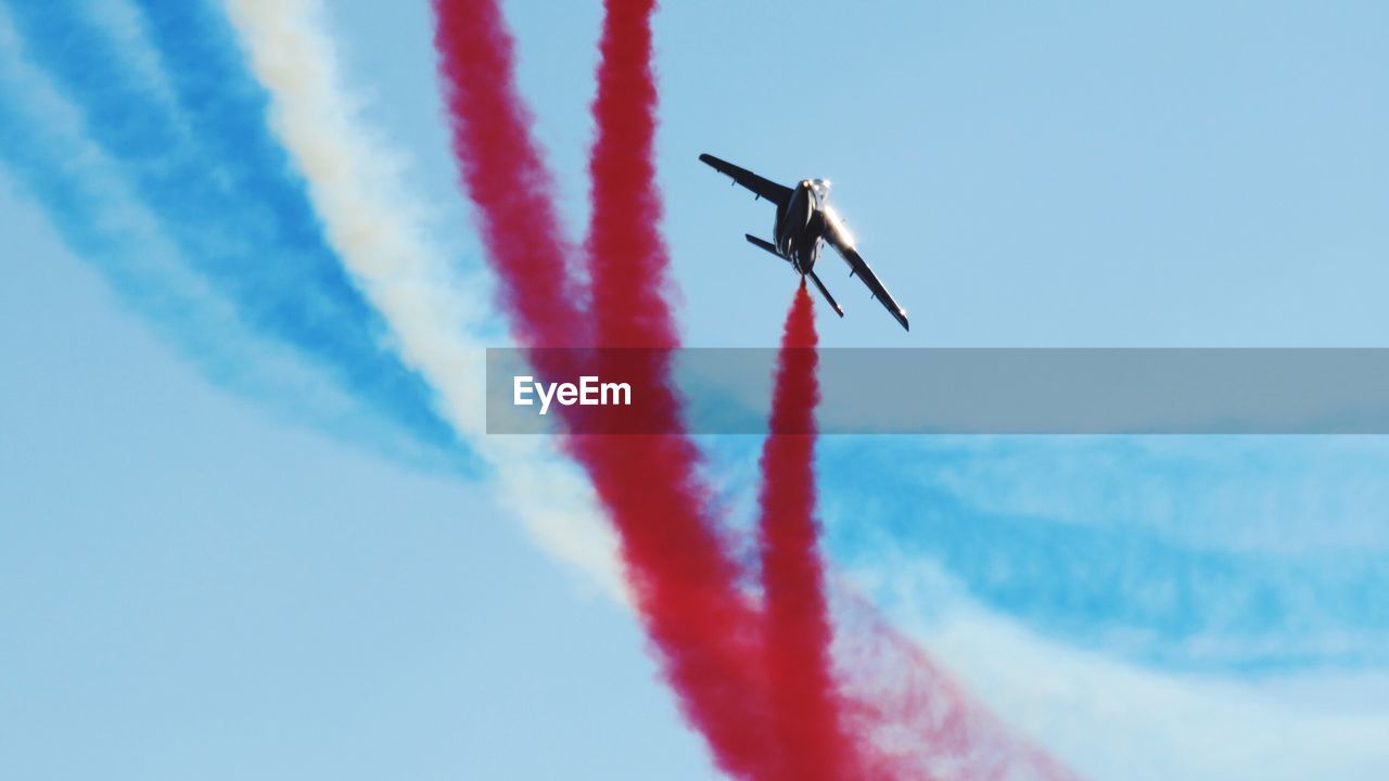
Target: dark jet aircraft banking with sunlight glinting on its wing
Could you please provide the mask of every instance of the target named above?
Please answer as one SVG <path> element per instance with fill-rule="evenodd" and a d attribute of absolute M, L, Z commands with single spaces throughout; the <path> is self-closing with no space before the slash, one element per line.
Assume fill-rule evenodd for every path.
<path fill-rule="evenodd" d="M 790 263 L 792 268 L 800 272 L 801 277 L 808 277 L 815 283 L 815 288 L 820 289 L 820 295 L 825 296 L 829 306 L 839 313 L 839 317 L 845 315 L 843 307 L 835 302 L 835 297 L 829 295 L 825 283 L 815 274 L 815 261 L 820 258 L 821 242 L 833 245 L 840 257 L 845 258 L 845 263 L 849 264 L 849 275 L 863 279 L 868 290 L 872 292 L 872 297 L 882 302 L 882 306 L 888 309 L 888 314 L 897 318 L 897 322 L 907 331 L 911 329 L 907 324 L 907 313 L 897 306 L 897 302 L 888 293 L 888 288 L 882 286 L 878 275 L 864 263 L 858 250 L 854 249 L 853 235 L 849 233 L 845 221 L 831 208 L 828 181 L 801 179 L 795 188 L 788 188 L 771 179 L 764 179 L 746 168 L 739 168 L 732 163 L 720 160 L 713 154 L 700 154 L 699 158 L 720 174 L 732 176 L 735 183 L 753 190 L 758 199 L 767 199 L 776 204 L 772 240 L 768 242 L 746 233 L 749 243 Z"/>

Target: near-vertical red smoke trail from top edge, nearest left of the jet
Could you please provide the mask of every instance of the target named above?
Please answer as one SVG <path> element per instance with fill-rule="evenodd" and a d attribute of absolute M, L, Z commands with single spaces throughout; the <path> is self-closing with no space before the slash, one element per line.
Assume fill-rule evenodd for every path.
<path fill-rule="evenodd" d="M 597 128 L 590 151 L 588 250 L 596 343 L 672 347 L 678 343 L 663 295 L 669 257 L 660 233 L 656 186 L 657 89 L 651 69 L 651 0 L 604 3 L 599 42 Z M 615 356 L 600 352 L 599 360 Z M 681 431 L 669 389 L 668 354 L 649 363 L 617 359 L 663 397 L 661 431 Z M 603 371 L 603 367 L 599 367 Z M 582 438 L 575 449 L 596 472 L 621 529 L 638 585 L 638 605 L 682 709 L 721 766 L 765 777 L 781 762 L 763 720 L 756 664 L 758 617 L 736 592 L 738 567 L 711 532 L 700 454 L 685 436 Z M 632 479 L 642 474 L 643 479 Z M 604 492 L 603 486 L 614 491 Z M 653 518 L 661 517 L 661 525 Z M 696 589 L 690 589 L 696 585 Z"/>

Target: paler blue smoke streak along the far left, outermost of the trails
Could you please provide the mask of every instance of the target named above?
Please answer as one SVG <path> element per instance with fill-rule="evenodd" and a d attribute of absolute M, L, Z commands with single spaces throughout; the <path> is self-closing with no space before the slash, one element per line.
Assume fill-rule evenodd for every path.
<path fill-rule="evenodd" d="M 424 468 L 467 470 L 456 453 L 421 445 L 361 402 L 325 393 L 326 378 L 301 360 L 267 349 L 225 302 L 211 297 L 167 246 L 153 221 L 131 208 L 129 193 L 81 138 L 51 111 L 0 53 L 0 172 L 44 211 L 63 242 L 215 384 L 268 403 L 390 457 Z"/>

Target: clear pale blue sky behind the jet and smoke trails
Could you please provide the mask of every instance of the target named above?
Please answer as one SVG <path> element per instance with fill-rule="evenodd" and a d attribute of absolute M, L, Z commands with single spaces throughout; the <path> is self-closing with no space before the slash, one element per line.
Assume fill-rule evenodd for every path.
<path fill-rule="evenodd" d="M 599 8 L 560 6 L 507 10 L 581 225 Z M 770 232 L 771 208 L 696 161 L 711 151 L 774 179 L 833 179 L 864 257 L 913 314 L 903 334 L 832 271 L 849 317 L 821 320 L 825 345 L 1385 346 L 1386 17 L 1376 3 L 669 3 L 660 167 L 688 340 L 774 343 L 795 283 L 743 242 Z M 425 4 L 332 3 L 331 19 L 369 121 L 438 204 L 439 240 L 478 263 Z M 486 486 L 210 382 L 11 185 L 0 176 L 0 775 L 710 775 L 631 617 L 535 549 Z M 957 459 L 917 488 L 945 485 L 970 517 L 1083 528 L 1131 511 L 1142 534 L 1114 521 L 1079 546 L 1101 557 L 1153 536 L 1271 548 L 1275 532 L 1300 552 L 1328 525 L 1331 553 L 1386 545 L 1372 474 L 1346 488 L 1358 503 L 1331 509 L 1345 517 L 1242 525 L 1232 513 L 1249 504 L 1208 481 L 1218 496 L 1174 518 L 1192 482 L 1172 474 L 1208 457 L 1235 496 L 1279 504 L 1250 482 L 1272 479 L 1258 477 L 1267 453 L 1188 443 L 1181 468 L 1153 477 L 1147 457 L 1028 447 L 1007 468 Z M 1275 459 L 1276 479 L 1385 459 L 1299 453 Z M 1056 482 L 1017 479 L 1039 464 Z M 1039 548 L 1064 559 L 1063 542 Z M 863 545 L 843 542 L 846 564 L 864 564 Z M 1046 630 L 1070 596 L 1008 609 Z M 1032 700 L 1018 702 L 1014 716 Z"/>

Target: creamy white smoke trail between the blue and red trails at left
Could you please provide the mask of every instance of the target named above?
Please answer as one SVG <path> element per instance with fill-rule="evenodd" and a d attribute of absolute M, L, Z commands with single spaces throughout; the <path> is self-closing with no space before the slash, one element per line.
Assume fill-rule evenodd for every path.
<path fill-rule="evenodd" d="M 324 33 L 318 0 L 226 0 L 272 131 L 308 183 L 328 240 L 390 327 L 401 360 L 436 390 L 440 413 L 496 470 L 497 502 L 554 557 L 625 600 L 617 539 L 576 468 L 540 438 L 483 431 L 486 302 L 425 239 L 389 149 L 357 117 Z"/>

